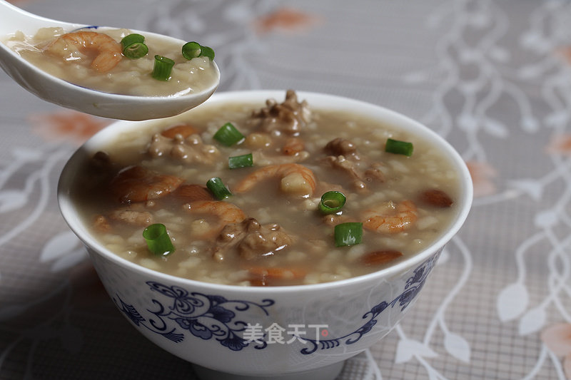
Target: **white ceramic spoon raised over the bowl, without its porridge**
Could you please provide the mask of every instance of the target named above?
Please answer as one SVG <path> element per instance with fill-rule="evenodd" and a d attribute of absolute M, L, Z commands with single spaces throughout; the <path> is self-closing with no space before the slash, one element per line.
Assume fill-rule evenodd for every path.
<path fill-rule="evenodd" d="M 70 24 L 63 21 L 46 19 L 23 11 L 4 0 L 0 0 L 0 36 L 8 36 L 16 31 L 22 31 L 26 35 L 34 35 L 36 31 L 44 27 L 61 26 L 65 31 L 84 28 L 86 25 Z M 158 38 L 170 38 L 168 36 L 149 33 L 146 31 L 133 31 L 145 36 Z M 59 106 L 71 108 L 77 111 L 91 113 L 92 115 L 121 120 L 147 120 L 164 118 L 178 115 L 184 111 L 198 106 L 208 99 L 220 81 L 220 71 L 216 69 L 216 83 L 210 88 L 198 93 L 184 96 L 127 96 L 113 93 L 103 93 L 81 86 L 76 86 L 62 79 L 49 75 L 28 61 L 21 58 L 18 53 L 12 51 L 4 43 L 0 42 L 0 67 L 8 73 L 20 86 L 26 88 L 39 98 L 55 103 Z"/>

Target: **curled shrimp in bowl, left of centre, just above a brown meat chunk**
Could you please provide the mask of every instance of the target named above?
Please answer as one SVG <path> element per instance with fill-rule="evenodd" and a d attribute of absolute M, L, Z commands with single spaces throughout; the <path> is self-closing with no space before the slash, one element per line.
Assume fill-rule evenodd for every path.
<path fill-rule="evenodd" d="M 217 218 L 216 225 L 213 228 L 200 234 L 202 238 L 215 237 L 224 226 L 231 223 L 239 223 L 246 219 L 246 214 L 240 207 L 223 200 L 198 200 L 188 203 L 187 210 L 191 214 L 209 215 Z"/>

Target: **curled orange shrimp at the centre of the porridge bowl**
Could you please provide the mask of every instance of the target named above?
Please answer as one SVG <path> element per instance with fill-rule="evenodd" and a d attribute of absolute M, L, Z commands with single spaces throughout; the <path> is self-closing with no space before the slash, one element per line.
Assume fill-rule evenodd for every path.
<path fill-rule="evenodd" d="M 251 190 L 263 180 L 281 177 L 280 188 L 283 192 L 309 196 L 315 191 L 315 175 L 309 168 L 297 163 L 268 165 L 248 175 L 238 183 L 234 190 L 245 192 Z"/>

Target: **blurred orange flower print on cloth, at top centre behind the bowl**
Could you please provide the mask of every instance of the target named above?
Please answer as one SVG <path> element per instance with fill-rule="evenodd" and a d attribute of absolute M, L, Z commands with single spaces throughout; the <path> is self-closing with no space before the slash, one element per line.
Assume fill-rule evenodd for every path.
<path fill-rule="evenodd" d="M 270 14 L 262 16 L 254 23 L 259 34 L 267 34 L 271 31 L 303 31 L 315 25 L 318 17 L 305 14 L 291 8 L 281 8 Z"/>

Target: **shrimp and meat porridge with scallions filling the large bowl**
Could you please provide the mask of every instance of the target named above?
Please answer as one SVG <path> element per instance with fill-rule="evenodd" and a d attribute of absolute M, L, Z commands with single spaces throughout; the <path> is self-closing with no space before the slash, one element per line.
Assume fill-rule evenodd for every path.
<path fill-rule="evenodd" d="M 201 282 L 283 286 L 369 274 L 430 247 L 458 218 L 459 176 L 430 138 L 288 91 L 118 133 L 69 192 L 123 259 Z"/>

